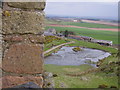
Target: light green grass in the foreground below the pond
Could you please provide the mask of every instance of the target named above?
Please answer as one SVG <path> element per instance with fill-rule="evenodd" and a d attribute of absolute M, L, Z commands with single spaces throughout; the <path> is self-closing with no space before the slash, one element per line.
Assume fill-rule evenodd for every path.
<path fill-rule="evenodd" d="M 89 73 L 83 76 L 68 76 L 67 74 L 76 74 L 78 72 L 86 71 L 93 67 L 89 65 L 80 66 L 57 66 L 45 65 L 45 70 L 57 74 L 54 77 L 55 88 L 98 88 L 99 85 L 107 85 L 118 87 L 118 77 L 110 76 L 103 72 Z"/>

